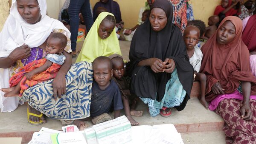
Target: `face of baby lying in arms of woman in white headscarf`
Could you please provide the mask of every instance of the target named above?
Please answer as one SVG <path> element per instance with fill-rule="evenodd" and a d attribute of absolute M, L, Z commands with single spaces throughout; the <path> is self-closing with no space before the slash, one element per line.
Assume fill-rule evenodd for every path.
<path fill-rule="evenodd" d="M 49 37 L 45 47 L 47 54 L 61 54 L 64 48 L 61 48 L 61 42 L 58 38 Z"/>

